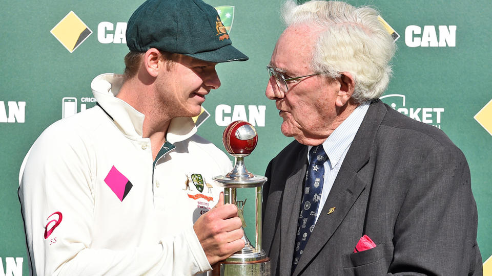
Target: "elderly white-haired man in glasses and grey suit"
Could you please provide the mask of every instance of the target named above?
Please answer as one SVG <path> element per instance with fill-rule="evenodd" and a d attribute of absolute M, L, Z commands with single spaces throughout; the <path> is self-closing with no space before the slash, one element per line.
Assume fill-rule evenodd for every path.
<path fill-rule="evenodd" d="M 270 162 L 272 275 L 482 273 L 463 153 L 378 97 L 395 44 L 368 7 L 287 3 L 266 95 L 296 141 Z"/>

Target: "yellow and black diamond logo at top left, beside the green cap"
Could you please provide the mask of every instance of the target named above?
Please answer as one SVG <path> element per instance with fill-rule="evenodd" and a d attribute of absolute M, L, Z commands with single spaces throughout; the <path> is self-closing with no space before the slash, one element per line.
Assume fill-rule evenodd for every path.
<path fill-rule="evenodd" d="M 92 34 L 92 31 L 73 11 L 70 11 L 51 29 L 50 33 L 72 53 Z"/>

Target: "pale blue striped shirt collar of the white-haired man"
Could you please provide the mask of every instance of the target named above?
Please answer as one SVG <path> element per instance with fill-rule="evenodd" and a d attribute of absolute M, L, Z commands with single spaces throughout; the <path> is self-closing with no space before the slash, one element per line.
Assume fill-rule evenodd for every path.
<path fill-rule="evenodd" d="M 326 155 L 328 155 L 331 169 L 337 165 L 345 150 L 352 144 L 352 141 L 354 141 L 355 134 L 357 134 L 360 124 L 362 123 L 362 120 L 364 120 L 369 104 L 370 101 L 366 101 L 354 109 L 347 119 L 345 119 L 323 142 L 323 149 L 326 152 Z M 309 146 L 308 152 L 312 147 L 313 146 Z"/>

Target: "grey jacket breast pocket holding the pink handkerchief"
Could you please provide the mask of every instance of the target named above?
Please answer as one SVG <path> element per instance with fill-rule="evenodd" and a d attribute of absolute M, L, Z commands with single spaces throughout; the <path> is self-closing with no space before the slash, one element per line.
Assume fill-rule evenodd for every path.
<path fill-rule="evenodd" d="M 348 275 L 382 275 L 388 268 L 384 258 L 385 244 L 343 255 L 343 272 Z"/>

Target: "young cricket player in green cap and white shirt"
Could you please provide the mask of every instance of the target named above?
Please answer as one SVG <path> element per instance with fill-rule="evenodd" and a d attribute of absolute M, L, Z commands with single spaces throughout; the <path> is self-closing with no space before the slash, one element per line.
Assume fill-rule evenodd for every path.
<path fill-rule="evenodd" d="M 192 275 L 244 246 L 236 206 L 210 184 L 231 162 L 191 118 L 220 86 L 215 65 L 248 59 L 222 27 L 201 0 L 133 13 L 125 75 L 96 77 L 97 106 L 51 125 L 25 158 L 33 274 Z"/>

